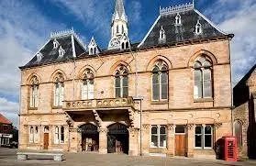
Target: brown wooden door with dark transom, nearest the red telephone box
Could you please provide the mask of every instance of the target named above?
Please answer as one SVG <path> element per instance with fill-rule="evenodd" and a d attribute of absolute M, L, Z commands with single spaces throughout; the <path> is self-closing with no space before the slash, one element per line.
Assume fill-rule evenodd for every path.
<path fill-rule="evenodd" d="M 184 126 L 175 127 L 175 156 L 186 155 L 186 132 Z"/>

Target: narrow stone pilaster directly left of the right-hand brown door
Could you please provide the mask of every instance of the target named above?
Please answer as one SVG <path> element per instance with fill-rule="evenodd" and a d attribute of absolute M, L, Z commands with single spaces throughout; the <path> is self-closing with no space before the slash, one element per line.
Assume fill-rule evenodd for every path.
<path fill-rule="evenodd" d="M 173 157 L 175 154 L 175 125 L 167 125 L 167 155 Z"/>

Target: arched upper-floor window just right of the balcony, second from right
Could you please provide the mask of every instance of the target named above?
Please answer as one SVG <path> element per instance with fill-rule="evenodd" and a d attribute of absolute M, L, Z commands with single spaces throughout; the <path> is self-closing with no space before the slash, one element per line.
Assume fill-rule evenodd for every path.
<path fill-rule="evenodd" d="M 168 67 L 164 61 L 157 61 L 152 74 L 152 100 L 168 99 Z"/>

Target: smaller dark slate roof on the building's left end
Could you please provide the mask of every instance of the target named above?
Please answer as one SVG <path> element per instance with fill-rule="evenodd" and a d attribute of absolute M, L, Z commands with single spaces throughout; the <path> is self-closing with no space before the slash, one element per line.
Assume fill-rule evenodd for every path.
<path fill-rule="evenodd" d="M 57 41 L 60 44 L 59 47 L 56 49 L 53 48 L 53 40 L 54 39 L 57 39 Z M 73 39 L 74 39 L 75 53 L 76 53 L 76 55 L 81 55 L 85 51 L 85 48 L 78 41 L 78 39 L 76 39 L 75 37 Z M 59 48 L 60 47 L 63 50 L 65 50 L 65 54 L 62 57 L 59 56 Z M 50 40 L 39 50 L 39 52 L 42 54 L 41 61 L 38 61 L 37 55 L 35 55 L 31 61 L 29 61 L 25 66 L 23 66 L 21 68 L 38 66 L 38 65 L 42 65 L 42 64 L 48 64 L 50 62 L 71 60 L 73 57 L 73 55 L 72 55 L 72 34 L 63 35 L 63 36 L 56 37 L 56 38 L 50 38 Z"/>

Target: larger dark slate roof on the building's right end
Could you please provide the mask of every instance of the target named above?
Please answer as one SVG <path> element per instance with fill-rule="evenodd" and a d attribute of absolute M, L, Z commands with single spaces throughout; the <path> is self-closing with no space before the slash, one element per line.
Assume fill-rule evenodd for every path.
<path fill-rule="evenodd" d="M 159 45 L 159 36 L 161 27 L 165 31 L 166 43 L 180 42 L 191 39 L 209 39 L 226 35 L 210 22 L 199 11 L 192 9 L 179 12 L 182 24 L 175 25 L 175 17 L 177 13 L 160 15 L 154 25 L 150 28 L 149 33 L 139 44 L 140 48 Z M 202 25 L 203 32 L 199 35 L 195 34 L 195 25 L 199 20 Z"/>

